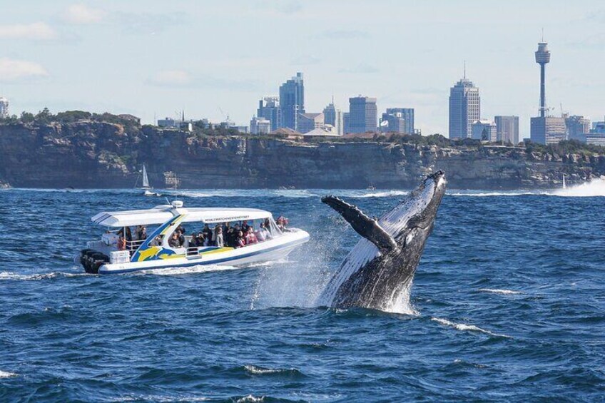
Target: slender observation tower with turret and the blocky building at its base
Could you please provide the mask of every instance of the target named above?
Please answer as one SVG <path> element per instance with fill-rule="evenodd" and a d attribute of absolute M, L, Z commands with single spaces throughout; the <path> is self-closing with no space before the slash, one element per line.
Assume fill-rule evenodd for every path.
<path fill-rule="evenodd" d="M 546 42 L 539 42 L 535 53 L 540 65 L 540 116 L 530 119 L 529 138 L 535 143 L 556 144 L 566 140 L 565 118 L 546 116 L 546 63 L 550 62 L 550 51 Z"/>

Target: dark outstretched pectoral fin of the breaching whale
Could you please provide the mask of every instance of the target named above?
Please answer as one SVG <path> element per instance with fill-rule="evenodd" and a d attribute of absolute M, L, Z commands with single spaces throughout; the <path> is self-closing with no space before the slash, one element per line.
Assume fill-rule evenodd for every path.
<path fill-rule="evenodd" d="M 390 252 L 397 248 L 395 240 L 378 224 L 377 220 L 372 220 L 357 206 L 336 196 L 325 196 L 322 198 L 322 203 L 329 205 L 342 215 L 342 218 L 347 220 L 356 233 L 376 245 L 380 252 Z"/>

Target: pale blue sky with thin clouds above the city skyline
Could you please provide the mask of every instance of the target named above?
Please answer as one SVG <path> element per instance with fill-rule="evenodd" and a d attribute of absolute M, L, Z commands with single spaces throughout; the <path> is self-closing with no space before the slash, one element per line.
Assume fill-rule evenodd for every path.
<path fill-rule="evenodd" d="M 83 109 L 247 125 L 258 99 L 305 74 L 305 107 L 378 98 L 447 135 L 449 87 L 479 86 L 482 117 L 537 114 L 534 51 L 544 27 L 546 101 L 605 115 L 602 1 L 0 0 L 0 96 L 11 113 Z"/>

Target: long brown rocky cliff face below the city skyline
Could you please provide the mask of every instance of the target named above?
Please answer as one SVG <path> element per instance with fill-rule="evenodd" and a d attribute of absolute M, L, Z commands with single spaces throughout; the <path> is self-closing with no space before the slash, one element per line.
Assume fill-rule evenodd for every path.
<path fill-rule="evenodd" d="M 605 156 L 526 153 L 522 148 L 438 148 L 396 143 L 295 143 L 193 136 L 145 126 L 68 123 L 0 126 L 0 183 L 17 187 L 131 188 L 142 163 L 163 187 L 409 188 L 435 169 L 452 188 L 529 188 L 605 174 Z"/>

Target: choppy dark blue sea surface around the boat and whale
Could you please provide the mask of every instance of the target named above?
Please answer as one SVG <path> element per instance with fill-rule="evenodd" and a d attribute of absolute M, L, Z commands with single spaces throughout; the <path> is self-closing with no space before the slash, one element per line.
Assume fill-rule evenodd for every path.
<path fill-rule="evenodd" d="M 283 214 L 288 260 L 87 275 L 133 190 L 0 190 L 1 402 L 602 401 L 605 185 L 448 190 L 402 312 L 315 304 L 358 240 L 320 195 L 379 215 L 407 190 L 184 190 Z"/>

